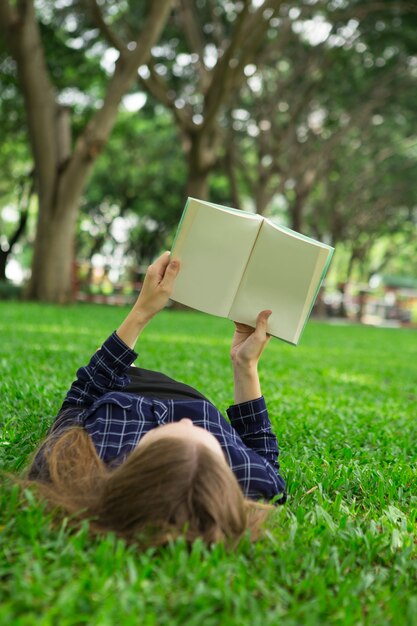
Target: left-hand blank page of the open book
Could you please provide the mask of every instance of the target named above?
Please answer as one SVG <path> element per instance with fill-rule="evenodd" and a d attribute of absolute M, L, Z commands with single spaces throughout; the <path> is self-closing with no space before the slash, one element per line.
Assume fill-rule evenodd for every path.
<path fill-rule="evenodd" d="M 227 317 L 262 218 L 188 200 L 172 249 L 181 261 L 172 300 Z"/>

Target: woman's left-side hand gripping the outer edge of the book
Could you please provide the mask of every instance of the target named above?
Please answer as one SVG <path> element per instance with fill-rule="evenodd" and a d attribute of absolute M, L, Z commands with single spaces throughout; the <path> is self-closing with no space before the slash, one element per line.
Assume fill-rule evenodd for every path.
<path fill-rule="evenodd" d="M 148 267 L 133 307 L 145 321 L 149 321 L 167 304 L 179 269 L 179 261 L 170 261 L 169 252 L 164 252 Z"/>

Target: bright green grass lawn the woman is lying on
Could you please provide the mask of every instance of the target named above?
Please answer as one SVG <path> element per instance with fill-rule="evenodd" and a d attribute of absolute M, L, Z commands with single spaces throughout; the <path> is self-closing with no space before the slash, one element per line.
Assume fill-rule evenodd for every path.
<path fill-rule="evenodd" d="M 126 310 L 0 304 L 0 469 L 18 471 L 79 365 Z M 232 401 L 232 325 L 164 312 L 138 364 Z M 0 624 L 417 624 L 417 333 L 310 322 L 273 340 L 261 378 L 289 500 L 232 553 L 178 541 L 139 553 L 54 529 L 26 491 L 0 495 Z"/>

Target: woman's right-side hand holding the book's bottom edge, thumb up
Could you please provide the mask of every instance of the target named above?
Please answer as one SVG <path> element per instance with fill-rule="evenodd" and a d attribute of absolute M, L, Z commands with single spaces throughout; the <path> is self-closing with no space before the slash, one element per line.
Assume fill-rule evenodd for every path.
<path fill-rule="evenodd" d="M 257 366 L 271 336 L 267 334 L 268 318 L 272 311 L 261 311 L 256 318 L 256 328 L 235 322 L 230 358 L 234 366 Z"/>

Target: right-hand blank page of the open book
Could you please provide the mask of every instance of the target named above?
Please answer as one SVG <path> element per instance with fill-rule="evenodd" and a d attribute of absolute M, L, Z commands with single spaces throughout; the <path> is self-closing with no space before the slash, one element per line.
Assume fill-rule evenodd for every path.
<path fill-rule="evenodd" d="M 270 309 L 268 332 L 296 344 L 329 254 L 324 244 L 293 237 L 265 220 L 230 319 L 254 326 L 258 313 Z"/>

